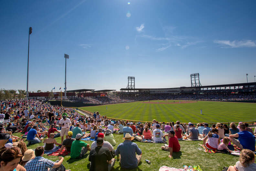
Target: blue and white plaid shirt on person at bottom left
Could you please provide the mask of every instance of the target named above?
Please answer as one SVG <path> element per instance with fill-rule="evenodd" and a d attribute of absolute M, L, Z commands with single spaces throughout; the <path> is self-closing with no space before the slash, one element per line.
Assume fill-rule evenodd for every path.
<path fill-rule="evenodd" d="M 29 160 L 25 168 L 27 171 L 48 171 L 48 167 L 52 168 L 55 162 L 44 157 L 38 156 L 32 160 Z"/>

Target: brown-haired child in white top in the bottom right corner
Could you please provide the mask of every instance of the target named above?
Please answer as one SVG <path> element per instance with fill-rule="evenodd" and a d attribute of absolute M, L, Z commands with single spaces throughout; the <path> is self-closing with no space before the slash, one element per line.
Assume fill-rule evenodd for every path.
<path fill-rule="evenodd" d="M 254 153 L 249 149 L 243 149 L 239 161 L 234 166 L 229 166 L 228 171 L 253 171 L 256 170 Z"/>

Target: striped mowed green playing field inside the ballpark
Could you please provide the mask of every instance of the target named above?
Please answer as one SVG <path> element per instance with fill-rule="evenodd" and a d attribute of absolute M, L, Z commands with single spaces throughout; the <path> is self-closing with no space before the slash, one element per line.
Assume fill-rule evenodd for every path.
<path fill-rule="evenodd" d="M 151 102 L 166 103 L 163 100 Z M 169 100 L 167 102 L 173 102 Z M 80 107 L 83 110 L 96 112 L 101 116 L 113 118 L 159 122 L 238 122 L 256 120 L 256 104 L 239 102 L 218 102 L 218 101 L 198 101 L 194 103 L 176 104 L 148 104 L 142 102 L 131 102 L 113 105 Z M 106 106 L 108 109 L 106 110 Z M 200 114 L 203 110 L 203 115 Z"/>

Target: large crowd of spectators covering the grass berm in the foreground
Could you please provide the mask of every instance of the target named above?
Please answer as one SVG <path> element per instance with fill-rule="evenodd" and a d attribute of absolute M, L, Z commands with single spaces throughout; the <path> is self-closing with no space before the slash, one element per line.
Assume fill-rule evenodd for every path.
<path fill-rule="evenodd" d="M 106 127 L 106 128 L 104 128 Z M 256 170 L 254 163 L 255 131 L 247 123 L 231 123 L 229 126 L 216 123 L 152 122 L 133 123 L 128 120 L 107 119 L 99 112 L 92 116 L 80 115 L 74 108 L 52 106 L 34 100 L 0 102 L 0 171 L 67 171 L 63 157 L 51 161 L 45 153 L 60 147 L 65 148 L 70 158 L 82 158 L 89 153 L 90 170 L 110 171 L 116 160 L 122 168 L 136 168 L 141 162 L 142 150 L 134 143 L 150 141 L 166 143 L 159 150 L 168 151 L 168 157 L 181 150 L 179 140 L 202 140 L 206 148 L 220 153 L 233 152 L 231 142 L 241 149 L 240 160 L 229 170 Z M 23 138 L 13 133 L 23 132 Z M 123 143 L 116 144 L 113 134 L 122 134 Z M 61 137 L 61 143 L 56 137 Z M 90 138 L 91 147 L 83 141 Z M 27 144 L 24 140 L 27 140 Z M 43 142 L 34 151 L 31 144 Z M 114 150 L 113 146 L 116 146 Z M 115 159 L 115 156 L 117 159 Z"/>

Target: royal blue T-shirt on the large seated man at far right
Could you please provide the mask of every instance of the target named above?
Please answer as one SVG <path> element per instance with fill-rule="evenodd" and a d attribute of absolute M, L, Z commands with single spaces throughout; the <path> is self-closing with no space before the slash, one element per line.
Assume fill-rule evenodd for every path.
<path fill-rule="evenodd" d="M 238 140 L 245 149 L 255 151 L 255 136 L 249 131 L 241 131 L 237 133 L 239 135 Z"/>

